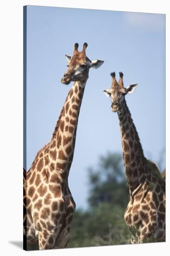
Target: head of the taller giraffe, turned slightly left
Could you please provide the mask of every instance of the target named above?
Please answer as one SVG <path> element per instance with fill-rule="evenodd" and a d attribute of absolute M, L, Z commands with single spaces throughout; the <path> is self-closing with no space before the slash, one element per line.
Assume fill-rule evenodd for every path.
<path fill-rule="evenodd" d="M 98 68 L 104 63 L 101 60 L 89 60 L 85 54 L 86 48 L 87 43 L 84 43 L 83 50 L 78 52 L 78 43 L 75 43 L 73 55 L 65 55 L 68 61 L 68 69 L 61 79 L 62 83 L 69 84 L 71 81 L 85 82 L 88 79 L 90 67 Z"/>

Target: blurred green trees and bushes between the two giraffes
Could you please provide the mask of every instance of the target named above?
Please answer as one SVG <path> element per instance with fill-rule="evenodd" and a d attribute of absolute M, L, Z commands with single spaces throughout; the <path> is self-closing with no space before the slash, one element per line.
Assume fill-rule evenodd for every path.
<path fill-rule="evenodd" d="M 97 167 L 89 168 L 89 208 L 76 209 L 67 247 L 130 243 L 124 222 L 129 190 L 121 154 L 101 156 Z"/>

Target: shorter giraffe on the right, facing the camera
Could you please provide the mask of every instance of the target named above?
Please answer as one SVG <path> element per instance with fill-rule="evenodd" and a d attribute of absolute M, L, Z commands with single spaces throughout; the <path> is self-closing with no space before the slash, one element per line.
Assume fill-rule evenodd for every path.
<path fill-rule="evenodd" d="M 155 163 L 144 156 L 137 130 L 125 101 L 137 87 L 132 84 L 124 88 L 123 73 L 116 81 L 111 73 L 111 88 L 104 90 L 111 97 L 111 110 L 118 112 L 121 131 L 123 159 L 130 202 L 124 213 L 125 222 L 131 232 L 131 243 L 165 241 L 165 181 Z"/>

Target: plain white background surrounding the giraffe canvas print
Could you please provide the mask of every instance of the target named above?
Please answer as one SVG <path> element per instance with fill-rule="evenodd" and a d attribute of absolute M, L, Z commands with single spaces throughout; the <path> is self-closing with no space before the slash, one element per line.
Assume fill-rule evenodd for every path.
<path fill-rule="evenodd" d="M 0 132 L 0 252 L 2 255 L 14 253 L 22 255 L 38 253 L 45 255 L 86 255 L 86 254 L 107 254 L 117 255 L 166 255 L 170 249 L 170 231 L 166 230 L 166 243 L 152 243 L 143 245 L 118 245 L 107 247 L 91 247 L 76 249 L 59 249 L 48 251 L 25 252 L 17 246 L 15 241 L 22 241 L 22 135 L 23 135 L 23 6 L 41 5 L 72 7 L 86 9 L 104 9 L 115 11 L 165 13 L 166 14 L 166 216 L 170 216 L 170 10 L 166 0 L 119 0 L 119 1 L 80 1 L 80 0 L 23 0 L 23 1 L 2 1 L 0 3 L 0 110 L 1 110 L 1 132 Z M 161 86 L 161 85 L 160 85 Z M 154 85 L 153 85 L 154 89 Z M 167 227 L 170 222 L 167 220 Z"/>

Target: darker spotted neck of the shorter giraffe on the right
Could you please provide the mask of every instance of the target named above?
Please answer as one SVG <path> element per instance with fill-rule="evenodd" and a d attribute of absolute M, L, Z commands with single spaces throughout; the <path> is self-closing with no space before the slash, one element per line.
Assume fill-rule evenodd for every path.
<path fill-rule="evenodd" d="M 118 112 L 123 159 L 130 193 L 144 181 L 145 157 L 126 101 Z"/>

